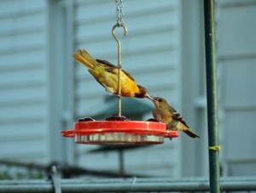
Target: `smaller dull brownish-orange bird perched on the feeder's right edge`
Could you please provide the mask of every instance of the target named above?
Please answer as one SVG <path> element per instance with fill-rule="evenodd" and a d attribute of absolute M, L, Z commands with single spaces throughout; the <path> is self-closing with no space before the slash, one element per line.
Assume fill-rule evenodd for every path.
<path fill-rule="evenodd" d="M 166 99 L 161 97 L 151 97 L 154 102 L 153 116 L 159 122 L 166 123 L 166 130 L 183 131 L 191 138 L 200 138 L 198 134 L 189 128 L 188 124 Z"/>

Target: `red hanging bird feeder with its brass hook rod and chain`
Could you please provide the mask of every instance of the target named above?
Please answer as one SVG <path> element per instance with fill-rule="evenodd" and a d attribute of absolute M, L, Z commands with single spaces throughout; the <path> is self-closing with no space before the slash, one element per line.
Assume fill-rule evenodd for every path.
<path fill-rule="evenodd" d="M 63 137 L 73 138 L 77 144 L 90 145 L 156 145 L 164 143 L 165 138 L 176 138 L 177 131 L 167 131 L 166 124 L 154 119 L 148 121 L 130 121 L 121 116 L 121 43 L 115 35 L 115 28 L 122 27 L 127 34 L 127 28 L 122 19 L 122 7 L 117 3 L 117 24 L 112 28 L 112 35 L 118 43 L 118 116 L 108 116 L 105 121 L 96 121 L 89 118 L 74 122 L 73 129 L 63 130 Z"/>

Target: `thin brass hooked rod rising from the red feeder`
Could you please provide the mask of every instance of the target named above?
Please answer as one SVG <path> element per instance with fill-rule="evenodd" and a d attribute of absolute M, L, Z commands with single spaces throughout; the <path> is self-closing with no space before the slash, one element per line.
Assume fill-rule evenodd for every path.
<path fill-rule="evenodd" d="M 113 35 L 113 38 L 116 40 L 116 42 L 118 43 L 118 98 L 119 98 L 119 116 L 121 116 L 121 81 L 120 81 L 120 70 L 121 70 L 121 43 L 119 41 L 119 38 L 116 36 L 115 34 L 115 28 L 116 27 L 123 27 L 124 30 L 125 30 L 125 33 L 124 35 L 126 36 L 127 34 L 127 28 L 124 24 L 116 24 L 113 26 L 112 28 L 112 35 Z"/>

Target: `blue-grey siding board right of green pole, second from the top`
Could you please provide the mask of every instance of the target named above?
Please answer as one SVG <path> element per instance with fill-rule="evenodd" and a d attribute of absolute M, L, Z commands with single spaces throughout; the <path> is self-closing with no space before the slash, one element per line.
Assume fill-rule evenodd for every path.
<path fill-rule="evenodd" d="M 255 64 L 256 59 L 227 60 L 221 63 L 221 65 L 224 65 L 225 110 L 252 109 L 253 107 L 256 110 L 256 91 L 250 86 L 254 82 Z M 236 94 L 234 94 L 234 91 L 237 91 Z"/>

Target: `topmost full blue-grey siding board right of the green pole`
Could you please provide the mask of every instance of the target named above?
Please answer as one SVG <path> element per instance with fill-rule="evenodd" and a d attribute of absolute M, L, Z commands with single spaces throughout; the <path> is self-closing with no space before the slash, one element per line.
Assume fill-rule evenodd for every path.
<path fill-rule="evenodd" d="M 222 22 L 219 23 L 218 54 L 220 60 L 228 60 L 228 57 L 256 57 L 256 43 L 253 41 L 256 34 L 254 23 L 256 17 L 256 4 L 246 3 L 247 6 L 224 7 L 220 13 Z M 241 27 L 242 26 L 242 27 Z"/>

